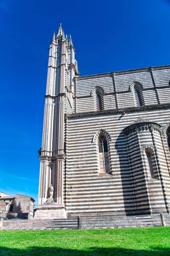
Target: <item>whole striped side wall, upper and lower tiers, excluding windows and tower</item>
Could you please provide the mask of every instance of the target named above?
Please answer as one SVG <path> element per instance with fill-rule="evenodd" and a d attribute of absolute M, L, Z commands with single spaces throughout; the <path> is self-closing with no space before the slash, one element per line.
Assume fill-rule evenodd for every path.
<path fill-rule="evenodd" d="M 141 107 L 136 107 L 130 89 L 134 81 L 143 87 Z M 169 81 L 170 66 L 78 77 L 74 81 L 74 107 L 73 113 L 67 115 L 65 137 L 64 193 L 68 215 L 169 211 L 170 152 L 166 129 L 170 124 L 170 105 L 163 105 L 170 103 Z M 103 111 L 96 111 L 94 106 L 92 91 L 96 86 L 104 90 Z M 154 106 L 146 108 L 147 105 Z M 137 128 L 125 134 L 124 129 L 139 116 L 147 119 L 148 124 L 156 123 L 158 129 Z M 100 173 L 97 145 L 100 131 L 110 136 L 109 174 Z M 154 151 L 154 178 L 150 177 L 146 147 Z"/>

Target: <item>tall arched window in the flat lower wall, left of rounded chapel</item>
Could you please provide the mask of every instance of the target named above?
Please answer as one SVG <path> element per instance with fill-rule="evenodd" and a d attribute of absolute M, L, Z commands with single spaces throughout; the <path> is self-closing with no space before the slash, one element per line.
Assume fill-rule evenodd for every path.
<path fill-rule="evenodd" d="M 100 172 L 109 173 L 109 154 L 108 154 L 108 143 L 106 138 L 102 135 L 98 140 L 99 145 L 99 162 L 100 162 Z"/>

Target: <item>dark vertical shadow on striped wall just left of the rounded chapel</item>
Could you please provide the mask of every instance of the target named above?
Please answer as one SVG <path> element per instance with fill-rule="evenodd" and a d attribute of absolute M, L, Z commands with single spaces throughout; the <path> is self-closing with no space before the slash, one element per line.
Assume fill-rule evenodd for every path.
<path fill-rule="evenodd" d="M 133 215 L 135 214 L 135 209 L 134 209 L 133 199 L 130 198 L 132 196 L 132 184 L 130 181 L 130 169 L 129 169 L 129 163 L 128 163 L 124 131 L 121 131 L 121 133 L 117 137 L 115 148 L 119 156 L 125 213 L 126 215 Z M 114 174 L 114 171 L 113 171 L 113 174 Z M 130 204 L 130 207 L 129 207 L 129 204 Z"/>

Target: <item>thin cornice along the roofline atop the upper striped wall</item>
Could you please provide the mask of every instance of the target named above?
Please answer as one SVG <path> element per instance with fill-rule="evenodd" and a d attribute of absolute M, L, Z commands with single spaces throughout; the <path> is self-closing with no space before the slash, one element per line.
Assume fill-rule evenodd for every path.
<path fill-rule="evenodd" d="M 81 80 L 81 79 L 88 79 L 88 78 L 97 78 L 100 76 L 113 76 L 113 73 L 116 74 L 121 74 L 121 73 L 133 73 L 133 72 L 138 72 L 138 71 L 148 71 L 150 72 L 150 70 L 160 70 L 160 69 L 166 69 L 166 68 L 170 68 L 170 65 L 165 65 L 165 66 L 157 66 L 157 67 L 145 67 L 145 68 L 139 68 L 139 69 L 133 69 L 133 70 L 124 70 L 124 71 L 112 71 L 110 73 L 102 73 L 102 74 L 96 74 L 96 75 L 89 75 L 89 76 L 79 76 L 77 79 Z"/>

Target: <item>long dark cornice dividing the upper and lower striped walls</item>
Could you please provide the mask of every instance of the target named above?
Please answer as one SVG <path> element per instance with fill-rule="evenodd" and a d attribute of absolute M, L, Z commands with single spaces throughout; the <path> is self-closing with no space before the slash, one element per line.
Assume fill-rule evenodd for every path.
<path fill-rule="evenodd" d="M 153 111 L 159 109 L 168 109 L 170 108 L 170 104 L 160 104 L 160 105 L 148 105 L 148 106 L 141 106 L 141 107 L 132 107 L 132 108 L 119 108 L 119 109 L 111 109 L 111 110 L 102 110 L 102 111 L 92 111 L 92 112 L 83 112 L 83 113 L 74 113 L 74 114 L 67 114 L 66 116 L 68 119 L 71 118 L 80 118 L 86 116 L 103 116 L 103 115 L 111 115 L 111 114 L 118 114 L 118 113 L 133 113 L 139 111 Z"/>

